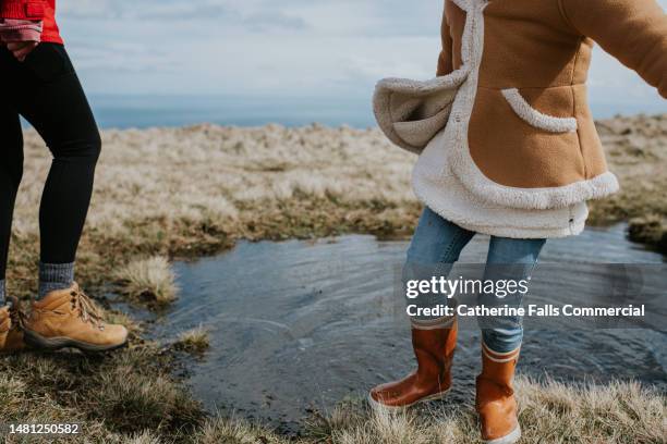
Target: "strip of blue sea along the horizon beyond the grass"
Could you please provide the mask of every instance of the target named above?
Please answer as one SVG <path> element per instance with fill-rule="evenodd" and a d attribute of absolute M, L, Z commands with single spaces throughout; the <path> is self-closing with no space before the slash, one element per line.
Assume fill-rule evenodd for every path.
<path fill-rule="evenodd" d="M 245 96 L 122 96 L 89 95 L 97 123 L 102 128 L 145 128 L 198 123 L 260 126 L 278 123 L 303 126 L 375 126 L 372 91 L 365 97 L 245 97 Z M 667 102 L 592 102 L 596 119 L 616 114 L 667 112 Z"/>

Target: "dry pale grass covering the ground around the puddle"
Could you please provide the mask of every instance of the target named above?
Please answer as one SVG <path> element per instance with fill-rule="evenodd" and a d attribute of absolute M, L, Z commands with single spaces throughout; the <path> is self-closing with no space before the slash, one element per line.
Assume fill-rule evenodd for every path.
<path fill-rule="evenodd" d="M 634 219 L 634 238 L 665 248 L 667 116 L 598 126 L 623 192 L 594 202 L 592 220 Z M 414 158 L 377 130 L 199 125 L 106 131 L 102 138 L 77 258 L 77 280 L 87 288 L 123 276 L 121 288 L 130 297 L 157 304 L 175 294 L 166 258 L 216 252 L 239 238 L 407 235 L 421 211 L 410 187 Z M 38 203 L 50 164 L 35 133 L 26 134 L 25 155 L 8 274 L 9 291 L 22 297 L 36 287 Z M 92 443 L 283 442 L 238 421 L 211 419 L 202 427 L 199 406 L 169 374 L 169 355 L 143 343 L 130 318 L 108 317 L 135 331 L 130 349 L 113 357 L 0 358 L 0 422 L 84 421 Z M 538 442 L 541 433 L 547 442 L 663 442 L 665 398 L 634 385 L 521 387 L 524 442 Z M 375 443 L 381 436 L 420 443 L 444 436 L 457 443 L 476 436 L 470 408 L 393 419 L 348 406 L 325 422 L 302 442 Z"/>

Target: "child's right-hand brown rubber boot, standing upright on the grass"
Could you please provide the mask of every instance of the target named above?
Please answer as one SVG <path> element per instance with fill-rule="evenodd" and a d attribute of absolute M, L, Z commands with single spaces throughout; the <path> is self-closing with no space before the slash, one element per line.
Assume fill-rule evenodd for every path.
<path fill-rule="evenodd" d="M 500 354 L 482 343 L 482 374 L 477 377 L 475 404 L 486 444 L 511 444 L 521 437 L 512 383 L 518 361 L 519 348 Z"/>

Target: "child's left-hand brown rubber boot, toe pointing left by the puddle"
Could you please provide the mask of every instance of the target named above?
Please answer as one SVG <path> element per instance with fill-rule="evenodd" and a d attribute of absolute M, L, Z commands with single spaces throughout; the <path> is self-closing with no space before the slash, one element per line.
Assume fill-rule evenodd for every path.
<path fill-rule="evenodd" d="M 417 369 L 401 381 L 378 385 L 368 394 L 374 408 L 402 409 L 441 398 L 451 387 L 451 362 L 457 346 L 457 321 L 449 329 L 412 329 Z"/>

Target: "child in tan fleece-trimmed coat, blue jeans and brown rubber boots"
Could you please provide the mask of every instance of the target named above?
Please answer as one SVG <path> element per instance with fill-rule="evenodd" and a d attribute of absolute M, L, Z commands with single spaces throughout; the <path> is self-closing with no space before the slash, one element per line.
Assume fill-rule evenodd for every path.
<path fill-rule="evenodd" d="M 492 235 L 489 274 L 509 264 L 525 279 L 547 238 L 583 230 L 586 200 L 618 189 L 586 97 L 594 41 L 667 98 L 667 16 L 655 0 L 445 1 L 438 78 L 383 81 L 376 95 L 380 127 L 420 155 L 413 185 L 427 208 L 404 279 L 436 266 L 447 273 L 475 233 Z M 401 408 L 447 392 L 456 325 L 413 318 L 419 368 L 372 390 L 372 404 Z M 521 322 L 482 331 L 482 437 L 513 443 Z"/>

